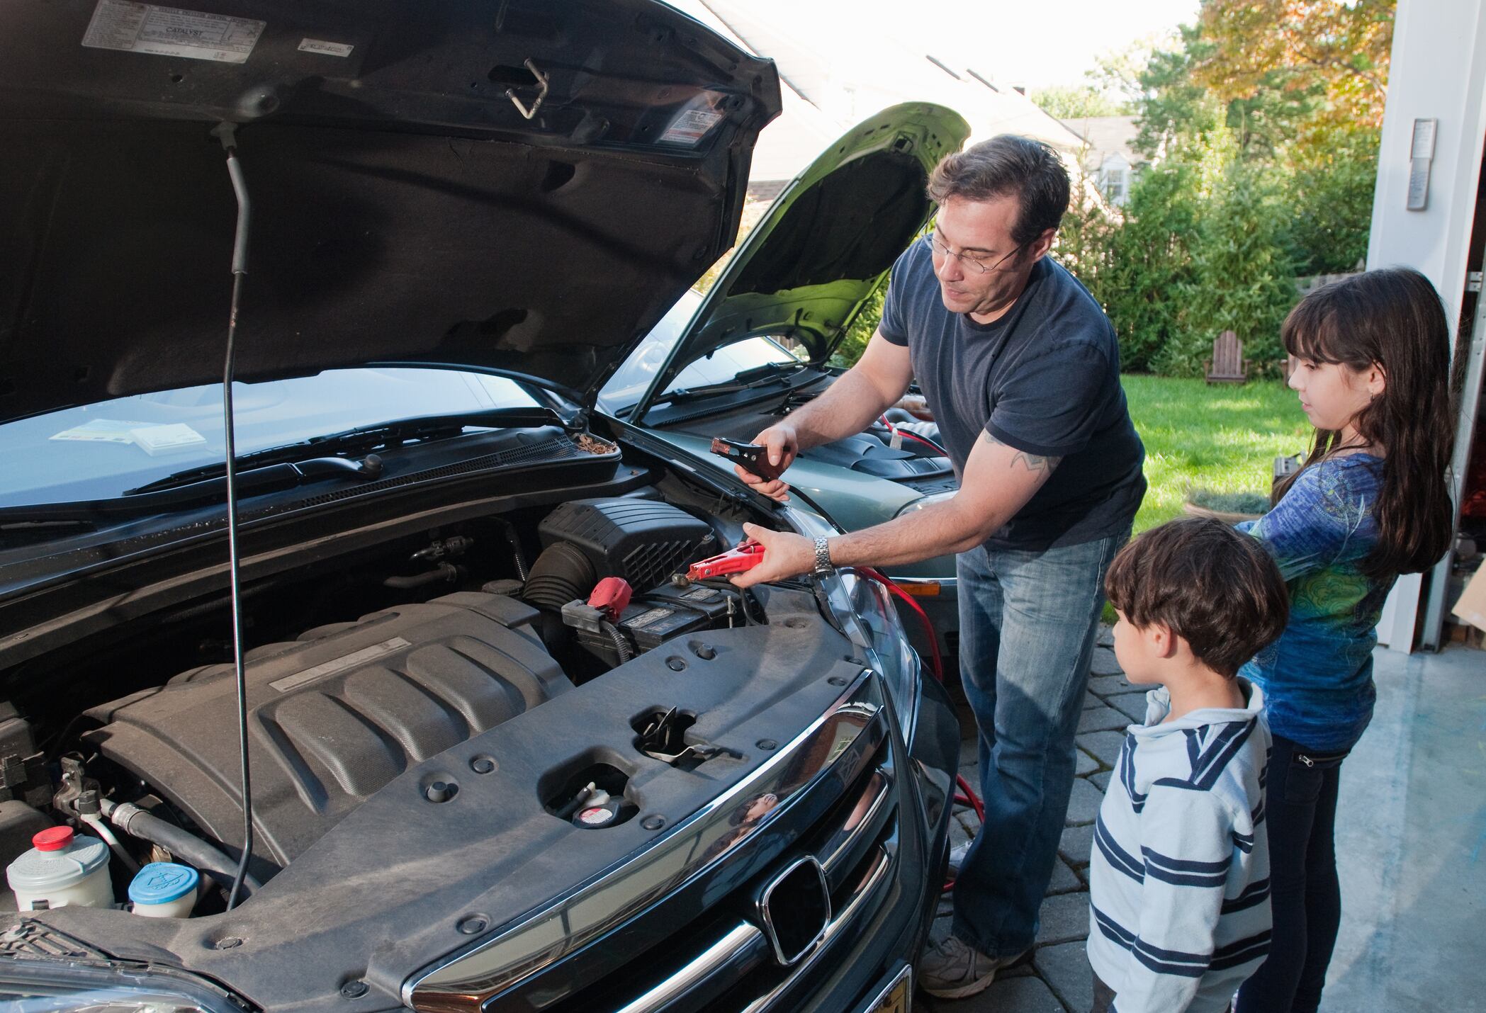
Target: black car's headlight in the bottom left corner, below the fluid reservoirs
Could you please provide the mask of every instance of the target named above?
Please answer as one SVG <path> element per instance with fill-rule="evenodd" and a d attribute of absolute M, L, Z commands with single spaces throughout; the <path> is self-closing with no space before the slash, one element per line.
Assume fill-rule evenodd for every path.
<path fill-rule="evenodd" d="M 242 1013 L 181 971 L 15 960 L 0 964 L 0 1009 L 15 1013 Z"/>

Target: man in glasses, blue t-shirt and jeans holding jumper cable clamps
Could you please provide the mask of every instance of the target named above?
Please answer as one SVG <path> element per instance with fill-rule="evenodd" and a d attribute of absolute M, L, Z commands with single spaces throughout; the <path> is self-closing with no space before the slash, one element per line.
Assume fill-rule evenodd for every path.
<path fill-rule="evenodd" d="M 947 156 L 929 196 L 936 227 L 893 267 L 862 359 L 756 443 L 788 465 L 860 432 L 917 376 L 960 490 L 814 542 L 747 526 L 765 556 L 736 582 L 960 554 L 960 673 L 979 726 L 985 824 L 958 867 L 953 934 L 920 962 L 924 991 L 958 998 L 1031 949 L 1073 787 L 1104 570 L 1146 481 L 1114 331 L 1046 255 L 1068 206 L 1057 153 L 996 137 Z M 739 474 L 785 498 L 783 481 Z"/>

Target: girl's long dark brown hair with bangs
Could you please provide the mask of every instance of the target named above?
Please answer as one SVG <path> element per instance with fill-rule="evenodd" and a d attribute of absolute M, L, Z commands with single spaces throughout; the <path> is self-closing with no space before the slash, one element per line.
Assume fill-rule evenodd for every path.
<path fill-rule="evenodd" d="M 1450 337 L 1434 285 L 1406 267 L 1343 278 L 1302 299 L 1285 316 L 1281 339 L 1291 355 L 1312 362 L 1382 368 L 1383 392 L 1355 422 L 1363 440 L 1385 453 L 1373 506 L 1378 545 L 1363 570 L 1392 576 L 1430 569 L 1444 556 L 1455 518 L 1446 484 L 1455 444 Z M 1317 429 L 1305 468 L 1337 450 L 1340 434 Z M 1276 501 L 1299 475 L 1275 490 Z"/>

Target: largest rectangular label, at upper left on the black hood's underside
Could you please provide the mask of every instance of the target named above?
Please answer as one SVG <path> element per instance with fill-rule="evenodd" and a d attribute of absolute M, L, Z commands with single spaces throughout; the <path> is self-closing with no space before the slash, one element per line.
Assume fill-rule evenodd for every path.
<path fill-rule="evenodd" d="M 131 0 L 98 0 L 83 45 L 156 56 L 247 62 L 266 21 L 160 7 Z"/>

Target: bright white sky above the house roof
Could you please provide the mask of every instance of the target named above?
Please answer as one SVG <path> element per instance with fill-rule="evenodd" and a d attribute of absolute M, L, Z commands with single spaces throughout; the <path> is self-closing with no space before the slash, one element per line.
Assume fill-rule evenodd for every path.
<path fill-rule="evenodd" d="M 892 25 L 902 45 L 1030 88 L 1079 85 L 1100 55 L 1174 31 L 1198 13 L 1198 0 L 791 0 L 791 6 L 831 19 L 850 9 L 854 27 Z"/>

